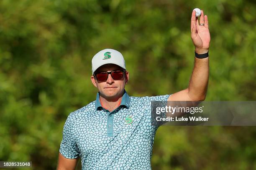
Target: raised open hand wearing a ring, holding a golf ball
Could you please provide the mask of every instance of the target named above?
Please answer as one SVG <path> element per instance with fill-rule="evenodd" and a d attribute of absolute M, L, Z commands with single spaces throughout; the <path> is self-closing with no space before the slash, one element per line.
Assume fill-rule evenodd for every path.
<path fill-rule="evenodd" d="M 204 54 L 208 52 L 210 46 L 210 32 L 208 29 L 208 18 L 204 15 L 204 11 L 201 10 L 200 24 L 198 18 L 196 18 L 196 12 L 193 10 L 191 16 L 191 39 L 195 45 L 195 52 L 197 54 Z"/>

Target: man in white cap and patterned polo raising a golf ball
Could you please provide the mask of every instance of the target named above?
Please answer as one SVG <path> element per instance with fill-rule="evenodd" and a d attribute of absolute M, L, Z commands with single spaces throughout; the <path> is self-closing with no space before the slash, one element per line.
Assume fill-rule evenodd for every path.
<path fill-rule="evenodd" d="M 125 84 L 129 73 L 120 52 L 105 49 L 92 58 L 92 84 L 96 100 L 67 118 L 59 150 L 58 170 L 74 170 L 77 160 L 82 169 L 151 169 L 151 153 L 158 126 L 151 125 L 150 103 L 161 101 L 205 100 L 209 76 L 210 32 L 207 15 L 201 10 L 200 24 L 191 18 L 195 45 L 195 65 L 189 86 L 172 95 L 129 97 Z"/>

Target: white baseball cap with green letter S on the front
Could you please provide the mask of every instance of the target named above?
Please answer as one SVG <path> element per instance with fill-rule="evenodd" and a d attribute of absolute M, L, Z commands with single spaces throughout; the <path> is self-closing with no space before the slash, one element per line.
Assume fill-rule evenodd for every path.
<path fill-rule="evenodd" d="M 115 64 L 126 70 L 123 55 L 117 50 L 104 49 L 95 54 L 92 58 L 92 74 L 105 64 Z"/>

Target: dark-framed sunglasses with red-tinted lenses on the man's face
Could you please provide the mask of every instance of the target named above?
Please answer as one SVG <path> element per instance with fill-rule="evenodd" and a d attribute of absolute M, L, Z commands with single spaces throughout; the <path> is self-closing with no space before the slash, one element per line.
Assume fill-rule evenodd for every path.
<path fill-rule="evenodd" d="M 98 81 L 107 81 L 110 74 L 114 80 L 120 80 L 123 78 L 125 70 L 114 70 L 110 72 L 96 72 L 93 74 Z"/>

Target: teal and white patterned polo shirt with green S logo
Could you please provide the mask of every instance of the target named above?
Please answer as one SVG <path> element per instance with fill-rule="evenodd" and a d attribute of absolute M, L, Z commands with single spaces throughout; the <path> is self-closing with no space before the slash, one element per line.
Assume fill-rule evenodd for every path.
<path fill-rule="evenodd" d="M 151 125 L 151 101 L 169 95 L 130 97 L 125 91 L 112 112 L 96 100 L 71 112 L 63 129 L 59 152 L 80 156 L 82 170 L 151 170 L 151 155 L 158 125 Z"/>

